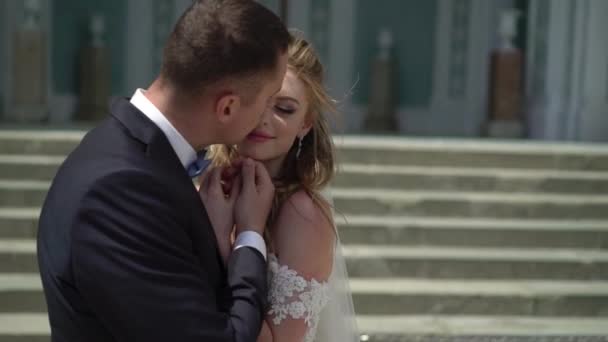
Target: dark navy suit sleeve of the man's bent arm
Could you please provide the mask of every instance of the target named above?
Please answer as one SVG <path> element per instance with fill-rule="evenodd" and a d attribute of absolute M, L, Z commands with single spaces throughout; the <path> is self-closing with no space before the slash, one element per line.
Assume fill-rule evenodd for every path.
<path fill-rule="evenodd" d="M 96 183 L 72 231 L 78 291 L 117 341 L 255 341 L 266 300 L 263 257 L 251 248 L 231 255 L 232 304 L 220 312 L 185 232 L 189 218 L 167 194 L 136 172 Z"/>

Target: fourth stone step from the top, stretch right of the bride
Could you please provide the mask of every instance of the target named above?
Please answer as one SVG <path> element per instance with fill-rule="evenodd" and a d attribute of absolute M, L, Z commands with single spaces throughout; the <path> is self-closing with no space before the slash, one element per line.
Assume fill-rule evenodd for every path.
<path fill-rule="evenodd" d="M 608 249 L 608 220 L 336 215 L 342 243 Z"/>

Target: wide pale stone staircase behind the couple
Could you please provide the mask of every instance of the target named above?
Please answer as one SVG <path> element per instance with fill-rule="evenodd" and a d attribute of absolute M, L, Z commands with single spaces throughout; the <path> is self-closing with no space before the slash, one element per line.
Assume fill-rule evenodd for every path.
<path fill-rule="evenodd" d="M 36 219 L 81 136 L 0 131 L 0 342 L 48 341 Z M 608 341 L 608 146 L 336 142 L 362 340 Z"/>

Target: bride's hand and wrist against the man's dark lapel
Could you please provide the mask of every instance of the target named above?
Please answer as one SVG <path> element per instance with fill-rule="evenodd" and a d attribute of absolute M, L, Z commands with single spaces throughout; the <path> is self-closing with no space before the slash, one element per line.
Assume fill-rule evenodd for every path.
<path fill-rule="evenodd" d="M 240 177 L 235 177 L 229 193 L 222 188 L 222 168 L 210 170 L 204 177 L 199 195 L 213 226 L 220 254 L 224 262 L 230 255 L 231 234 L 234 228 L 234 203 L 240 189 Z"/>

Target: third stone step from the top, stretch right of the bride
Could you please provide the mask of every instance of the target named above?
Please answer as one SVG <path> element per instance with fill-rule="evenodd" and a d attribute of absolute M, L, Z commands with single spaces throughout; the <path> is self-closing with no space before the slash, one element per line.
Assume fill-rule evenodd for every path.
<path fill-rule="evenodd" d="M 338 213 L 474 218 L 606 219 L 606 195 L 332 189 Z"/>

